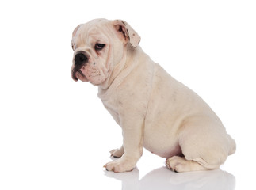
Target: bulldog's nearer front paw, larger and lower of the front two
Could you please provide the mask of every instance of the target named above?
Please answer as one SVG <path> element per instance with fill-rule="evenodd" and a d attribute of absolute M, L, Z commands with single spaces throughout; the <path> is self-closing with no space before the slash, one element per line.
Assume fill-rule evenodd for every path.
<path fill-rule="evenodd" d="M 114 173 L 123 173 L 123 172 L 131 172 L 136 166 L 136 161 L 129 160 L 126 158 L 120 158 L 117 161 L 110 161 L 105 164 L 103 167 L 107 171 L 113 171 Z"/>

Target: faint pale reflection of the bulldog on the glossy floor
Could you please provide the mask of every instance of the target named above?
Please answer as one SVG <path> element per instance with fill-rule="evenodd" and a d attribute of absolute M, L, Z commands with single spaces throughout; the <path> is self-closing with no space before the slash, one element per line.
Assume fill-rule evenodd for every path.
<path fill-rule="evenodd" d="M 130 173 L 105 172 L 107 177 L 122 181 L 123 190 L 136 189 L 235 189 L 235 177 L 221 169 L 202 172 L 174 173 L 166 167 L 155 169 L 139 180 L 139 170 Z"/>

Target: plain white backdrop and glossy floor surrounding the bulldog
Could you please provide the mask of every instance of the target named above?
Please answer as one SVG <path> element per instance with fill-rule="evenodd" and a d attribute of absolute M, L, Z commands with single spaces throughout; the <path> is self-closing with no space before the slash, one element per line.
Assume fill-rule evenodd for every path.
<path fill-rule="evenodd" d="M 255 1 L 0 2 L 0 189 L 255 189 Z M 237 151 L 222 170 L 173 173 L 144 151 L 109 173 L 120 127 L 97 87 L 74 82 L 71 33 L 127 21 L 141 47 L 220 116 Z"/>

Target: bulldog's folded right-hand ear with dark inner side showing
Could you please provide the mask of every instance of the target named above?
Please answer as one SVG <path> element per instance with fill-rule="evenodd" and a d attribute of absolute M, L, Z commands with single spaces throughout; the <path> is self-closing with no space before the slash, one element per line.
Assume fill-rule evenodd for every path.
<path fill-rule="evenodd" d="M 124 40 L 125 43 L 130 42 L 132 47 L 137 47 L 139 45 L 140 36 L 126 21 L 113 21 L 113 26 L 117 35 L 120 37 L 120 40 Z"/>

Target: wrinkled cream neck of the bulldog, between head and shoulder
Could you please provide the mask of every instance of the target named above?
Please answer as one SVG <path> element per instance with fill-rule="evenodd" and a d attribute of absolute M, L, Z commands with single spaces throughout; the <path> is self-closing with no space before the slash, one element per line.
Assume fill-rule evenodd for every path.
<path fill-rule="evenodd" d="M 124 56 L 120 63 L 113 68 L 113 71 L 109 74 L 109 77 L 105 82 L 98 86 L 98 97 L 102 99 L 102 96 L 104 96 L 105 93 L 116 89 L 117 86 L 120 86 L 120 83 L 124 81 L 124 78 L 126 78 L 137 66 L 139 59 L 143 54 L 144 52 L 141 47 L 132 47 L 128 44 L 127 50 L 124 52 Z"/>

